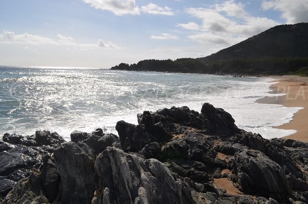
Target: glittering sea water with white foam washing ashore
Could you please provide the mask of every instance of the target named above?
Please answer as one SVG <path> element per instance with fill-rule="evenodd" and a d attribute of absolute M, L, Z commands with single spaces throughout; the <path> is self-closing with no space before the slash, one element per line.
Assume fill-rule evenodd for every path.
<path fill-rule="evenodd" d="M 264 78 L 113 71 L 65 67 L 0 66 L 0 135 L 55 131 L 70 140 L 74 130 L 102 127 L 117 134 L 119 120 L 137 124 L 137 114 L 171 106 L 200 112 L 205 102 L 232 114 L 238 127 L 264 138 L 295 130 L 276 129 L 300 108 L 255 101 L 268 94 Z"/>

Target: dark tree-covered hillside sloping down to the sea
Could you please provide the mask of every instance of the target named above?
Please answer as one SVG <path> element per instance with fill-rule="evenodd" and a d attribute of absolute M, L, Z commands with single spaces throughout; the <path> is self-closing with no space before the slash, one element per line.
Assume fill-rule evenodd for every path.
<path fill-rule="evenodd" d="M 297 74 L 308 73 L 308 23 L 279 25 L 205 58 L 143 60 L 113 70 L 187 73 Z"/>

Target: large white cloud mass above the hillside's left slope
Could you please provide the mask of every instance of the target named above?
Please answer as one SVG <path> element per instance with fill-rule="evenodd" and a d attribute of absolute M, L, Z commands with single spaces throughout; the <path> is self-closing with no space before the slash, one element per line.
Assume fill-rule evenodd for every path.
<path fill-rule="evenodd" d="M 185 12 L 199 18 L 202 23 L 199 25 L 191 22 L 188 24 L 179 23 L 177 26 L 199 31 L 188 36 L 188 39 L 192 41 L 209 46 L 229 46 L 279 25 L 278 22 L 269 18 L 249 15 L 244 8 L 245 5 L 234 0 L 215 4 L 208 8 L 188 8 Z"/>

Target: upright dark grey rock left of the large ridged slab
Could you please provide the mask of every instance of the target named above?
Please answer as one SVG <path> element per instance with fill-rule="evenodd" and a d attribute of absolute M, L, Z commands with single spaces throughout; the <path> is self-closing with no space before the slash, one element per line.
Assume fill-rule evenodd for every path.
<path fill-rule="evenodd" d="M 57 147 L 54 158 L 57 172 L 61 176 L 61 202 L 91 203 L 97 183 L 95 161 L 74 142 Z"/>

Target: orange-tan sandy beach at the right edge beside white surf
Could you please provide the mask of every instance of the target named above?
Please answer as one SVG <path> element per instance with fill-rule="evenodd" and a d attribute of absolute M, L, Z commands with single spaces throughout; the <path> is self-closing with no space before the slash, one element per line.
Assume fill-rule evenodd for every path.
<path fill-rule="evenodd" d="M 303 107 L 300 109 L 288 123 L 274 128 L 295 129 L 295 134 L 285 136 L 284 139 L 300 140 L 308 142 L 308 77 L 300 76 L 269 76 L 274 79 L 270 82 L 278 82 L 271 85 L 273 93 L 283 93 L 286 95 L 278 97 L 265 97 L 258 99 L 257 103 L 280 104 L 284 107 Z"/>

